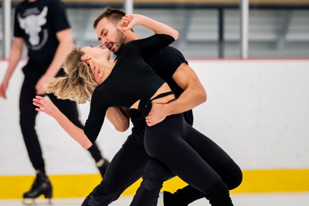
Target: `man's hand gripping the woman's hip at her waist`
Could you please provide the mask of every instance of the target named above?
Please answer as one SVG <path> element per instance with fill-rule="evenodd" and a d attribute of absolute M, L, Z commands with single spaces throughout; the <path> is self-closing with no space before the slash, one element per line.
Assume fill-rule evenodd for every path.
<path fill-rule="evenodd" d="M 162 122 L 169 114 L 168 104 L 152 103 L 150 113 L 146 117 L 148 126 L 153 126 Z"/>

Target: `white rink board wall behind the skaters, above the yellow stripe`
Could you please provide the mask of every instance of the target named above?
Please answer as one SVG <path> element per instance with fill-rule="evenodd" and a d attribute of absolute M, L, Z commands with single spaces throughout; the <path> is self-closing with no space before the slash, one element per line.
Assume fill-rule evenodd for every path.
<path fill-rule="evenodd" d="M 19 128 L 18 99 L 25 61 L 0 99 L 0 175 L 34 173 Z M 191 60 L 207 93 L 193 109 L 194 127 L 243 169 L 309 168 L 309 60 Z M 0 61 L 1 80 L 7 62 Z M 80 119 L 89 104 L 79 105 Z M 36 119 L 49 174 L 97 173 L 90 154 L 45 114 Z M 130 130 L 106 121 L 97 142 L 111 160 Z"/>

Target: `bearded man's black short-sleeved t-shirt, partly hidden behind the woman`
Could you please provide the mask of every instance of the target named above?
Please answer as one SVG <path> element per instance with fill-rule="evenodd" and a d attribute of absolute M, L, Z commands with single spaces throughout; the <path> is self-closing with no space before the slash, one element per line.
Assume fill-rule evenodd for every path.
<path fill-rule="evenodd" d="M 167 46 L 161 48 L 158 52 L 151 56 L 144 56 L 144 60 L 147 64 L 155 70 L 155 72 L 169 85 L 172 91 L 175 93 L 175 97 L 178 98 L 183 89 L 173 79 L 173 74 L 182 63 L 188 64 L 183 54 L 174 47 Z M 192 109 L 184 112 L 184 119 L 189 125 L 193 125 L 193 113 Z M 146 127 L 145 119 L 138 119 L 138 110 L 130 109 L 131 122 L 135 129 L 140 130 L 140 133 L 144 133 Z"/>

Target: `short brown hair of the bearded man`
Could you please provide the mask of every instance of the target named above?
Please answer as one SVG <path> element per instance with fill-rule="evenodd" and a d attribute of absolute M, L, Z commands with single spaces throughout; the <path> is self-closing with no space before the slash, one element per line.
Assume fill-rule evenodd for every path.
<path fill-rule="evenodd" d="M 105 11 L 102 12 L 97 19 L 95 19 L 95 22 L 93 23 L 93 28 L 96 29 L 99 21 L 104 17 L 107 17 L 112 23 L 117 25 L 123 16 L 125 16 L 125 12 L 123 12 L 122 10 L 105 7 Z M 131 31 L 133 31 L 133 29 L 131 29 Z"/>

